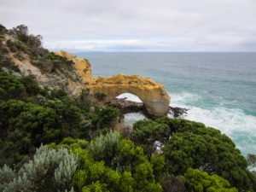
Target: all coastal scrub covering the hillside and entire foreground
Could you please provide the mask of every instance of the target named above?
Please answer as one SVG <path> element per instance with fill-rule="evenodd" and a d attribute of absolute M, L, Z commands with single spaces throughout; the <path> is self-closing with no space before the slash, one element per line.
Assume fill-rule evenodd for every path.
<path fill-rule="evenodd" d="M 220 131 L 163 117 L 137 121 L 124 137 L 113 129 L 124 115 L 91 106 L 90 90 L 71 98 L 22 75 L 7 55 L 24 52 L 43 72 L 79 79 L 26 26 L 0 25 L 0 191 L 256 191 L 256 156 Z"/>

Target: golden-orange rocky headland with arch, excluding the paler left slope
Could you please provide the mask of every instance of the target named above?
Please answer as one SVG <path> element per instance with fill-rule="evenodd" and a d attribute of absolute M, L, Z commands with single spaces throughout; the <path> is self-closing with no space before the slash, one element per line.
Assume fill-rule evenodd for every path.
<path fill-rule="evenodd" d="M 90 62 L 79 59 L 66 51 L 56 51 L 55 54 L 65 56 L 74 62 L 74 68 L 83 79 L 83 83 L 90 89 L 92 94 L 101 92 L 106 96 L 103 102 L 108 103 L 123 93 L 131 93 L 138 96 L 144 104 L 148 116 L 159 118 L 167 114 L 170 96 L 166 93 L 163 84 L 155 83 L 154 80 L 137 75 L 126 76 L 119 74 L 109 78 L 91 78 Z"/>

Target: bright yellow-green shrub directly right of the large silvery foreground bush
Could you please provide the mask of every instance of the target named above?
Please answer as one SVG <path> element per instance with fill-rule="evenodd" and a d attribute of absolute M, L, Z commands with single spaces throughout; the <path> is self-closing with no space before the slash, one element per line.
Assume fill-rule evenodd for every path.
<path fill-rule="evenodd" d="M 92 160 L 86 149 L 74 148 L 79 154 L 81 166 L 73 177 L 72 186 L 76 191 L 129 192 L 135 184 L 130 172 L 119 173 L 104 166 L 104 162 Z"/>

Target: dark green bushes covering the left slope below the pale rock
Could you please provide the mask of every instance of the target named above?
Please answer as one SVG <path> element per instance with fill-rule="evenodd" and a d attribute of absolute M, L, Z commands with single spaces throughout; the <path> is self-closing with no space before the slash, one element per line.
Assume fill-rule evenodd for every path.
<path fill-rule="evenodd" d="M 1 166 L 20 166 L 41 143 L 59 143 L 64 137 L 90 139 L 91 131 L 108 127 L 121 115 L 115 108 L 86 113 L 64 90 L 39 87 L 30 77 L 0 73 L 0 93 Z"/>

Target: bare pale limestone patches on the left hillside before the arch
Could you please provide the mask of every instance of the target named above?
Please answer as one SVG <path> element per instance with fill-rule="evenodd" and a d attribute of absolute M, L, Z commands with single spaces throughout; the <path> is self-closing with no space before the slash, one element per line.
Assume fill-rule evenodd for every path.
<path fill-rule="evenodd" d="M 70 66 L 70 70 L 67 70 L 64 67 L 60 67 L 59 69 L 55 69 L 55 73 L 51 73 L 50 71 L 47 71 L 44 68 L 46 65 L 48 65 L 48 67 L 53 67 L 51 66 L 51 63 L 49 61 L 45 61 L 46 60 L 45 58 L 48 55 L 48 50 L 43 48 L 38 48 L 40 50 L 42 49 L 43 53 L 45 52 L 45 56 L 41 57 L 42 61 L 37 61 L 37 63 L 39 64 L 35 64 L 36 61 L 32 59 L 32 55 L 30 53 L 31 48 L 26 47 L 26 45 L 24 44 L 21 44 L 23 46 L 23 49 L 11 51 L 10 45 L 8 45 L 8 40 L 11 40 L 13 42 L 12 44 L 21 44 L 21 42 L 17 40 L 17 38 L 14 35 L 4 34 L 1 39 L 1 46 L 2 46 L 2 49 L 7 49 L 8 51 L 6 52 L 8 53 L 2 55 L 2 57 L 5 58 L 4 60 L 12 61 L 14 65 L 20 69 L 20 72 L 23 75 L 30 75 L 34 77 L 35 79 L 37 79 L 38 84 L 49 86 L 49 87 L 52 87 L 53 89 L 66 90 L 68 95 L 72 97 L 79 96 L 79 94 L 81 93 L 81 90 L 86 89 L 86 85 L 83 83 L 83 80 L 79 75 L 79 69 L 77 69 L 79 68 L 77 66 L 80 63 L 82 64 L 86 63 L 85 61 L 83 62 L 82 59 L 79 59 L 78 61 L 74 62 L 74 64 Z M 18 58 L 22 58 L 22 59 L 18 59 L 17 55 L 19 55 Z M 74 58 L 74 60 L 76 59 Z M 3 67 L 3 66 L 0 66 L 0 67 L 4 71 L 7 71 L 8 73 L 14 72 L 11 69 L 11 67 Z M 90 68 L 90 63 L 89 62 L 86 63 L 85 67 Z M 90 70 L 88 71 L 90 72 Z M 84 79 L 86 78 L 91 79 L 91 73 L 84 73 Z"/>

